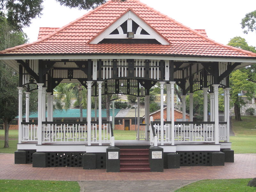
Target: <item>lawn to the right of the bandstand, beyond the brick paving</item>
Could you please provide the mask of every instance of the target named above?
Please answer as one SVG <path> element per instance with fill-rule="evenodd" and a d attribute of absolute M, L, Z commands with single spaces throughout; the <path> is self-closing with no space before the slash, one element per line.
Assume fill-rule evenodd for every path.
<path fill-rule="evenodd" d="M 256 117 L 242 116 L 242 121 L 231 120 L 236 136 L 230 136 L 231 148 L 235 153 L 256 153 Z"/>

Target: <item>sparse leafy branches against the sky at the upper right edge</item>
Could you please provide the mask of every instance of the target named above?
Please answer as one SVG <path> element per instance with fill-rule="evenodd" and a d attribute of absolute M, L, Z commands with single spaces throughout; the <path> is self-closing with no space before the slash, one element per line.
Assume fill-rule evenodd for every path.
<path fill-rule="evenodd" d="M 249 31 L 256 31 L 256 10 L 247 13 L 241 21 L 242 29 L 245 28 L 244 33 L 248 34 Z"/>

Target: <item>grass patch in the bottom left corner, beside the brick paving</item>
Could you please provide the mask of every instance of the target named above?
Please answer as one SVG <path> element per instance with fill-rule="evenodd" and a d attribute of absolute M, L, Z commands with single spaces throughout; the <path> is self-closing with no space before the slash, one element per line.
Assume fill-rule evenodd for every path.
<path fill-rule="evenodd" d="M 0 180 L 0 191 L 8 192 L 79 192 L 76 181 Z"/>

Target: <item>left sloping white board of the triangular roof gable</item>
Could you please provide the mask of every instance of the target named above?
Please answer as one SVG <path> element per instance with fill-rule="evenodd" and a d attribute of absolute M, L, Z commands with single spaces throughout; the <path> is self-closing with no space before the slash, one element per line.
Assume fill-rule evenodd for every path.
<path fill-rule="evenodd" d="M 129 19 L 129 12 L 125 13 L 122 17 L 120 17 L 118 20 L 116 20 L 115 23 L 110 25 L 105 31 L 103 31 L 99 36 L 95 37 L 90 44 L 98 44 L 100 41 L 105 39 L 112 31 L 114 31 L 116 28 L 118 28 L 120 25 L 124 23 L 124 21 Z M 126 34 L 125 34 L 126 35 Z"/>

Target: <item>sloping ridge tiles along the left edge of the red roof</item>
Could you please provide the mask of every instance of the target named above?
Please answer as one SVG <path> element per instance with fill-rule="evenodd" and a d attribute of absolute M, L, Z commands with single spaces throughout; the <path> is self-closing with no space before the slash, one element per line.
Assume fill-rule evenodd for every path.
<path fill-rule="evenodd" d="M 40 42 L 44 41 L 45 39 L 47 39 L 47 38 L 49 38 L 49 37 L 55 35 L 55 34 L 58 33 L 58 32 L 60 32 L 62 29 L 64 29 L 64 28 L 70 26 L 71 24 L 75 23 L 76 21 L 79 21 L 79 20 L 81 20 L 82 18 L 84 18 L 85 16 L 88 16 L 89 14 L 95 12 L 95 11 L 98 10 L 100 7 L 102 7 L 102 6 L 106 5 L 106 4 L 109 4 L 111 1 L 112 1 L 112 0 L 109 0 L 107 3 L 102 4 L 102 5 L 98 6 L 98 7 L 96 7 L 94 10 L 91 10 L 91 11 L 85 13 L 85 14 L 82 15 L 81 17 L 78 17 L 77 19 L 75 19 L 75 20 L 69 22 L 67 25 L 64 25 L 64 26 L 62 26 L 62 27 L 56 29 L 56 30 L 53 31 L 52 33 L 50 33 L 50 34 L 44 36 L 43 38 L 41 38 L 41 39 L 39 39 L 39 40 L 36 40 L 36 41 L 34 41 L 34 42 L 31 42 L 31 43 L 27 43 L 27 44 L 17 45 L 17 46 L 15 46 L 15 47 L 11 47 L 11 48 L 2 50 L 2 51 L 0 51 L 0 53 L 4 53 L 4 52 L 11 51 L 11 50 L 13 50 L 13 49 L 17 49 L 17 48 L 21 48 L 21 47 L 27 47 L 27 46 L 32 45 L 32 44 L 40 43 Z"/>

